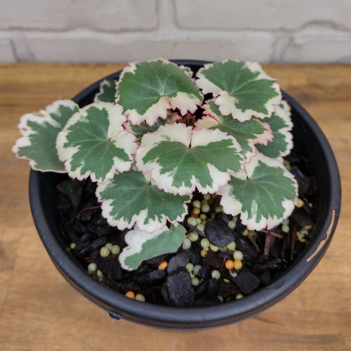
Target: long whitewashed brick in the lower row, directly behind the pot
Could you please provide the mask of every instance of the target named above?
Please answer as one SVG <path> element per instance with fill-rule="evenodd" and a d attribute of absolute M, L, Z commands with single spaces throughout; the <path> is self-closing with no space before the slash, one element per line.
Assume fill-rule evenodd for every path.
<path fill-rule="evenodd" d="M 205 37 L 205 38 L 204 38 Z M 26 43 L 38 61 L 126 62 L 160 56 L 169 59 L 257 60 L 267 62 L 272 53 L 273 35 L 231 33 L 225 38 L 195 36 L 175 40 L 151 35 L 96 33 L 28 34 Z"/>

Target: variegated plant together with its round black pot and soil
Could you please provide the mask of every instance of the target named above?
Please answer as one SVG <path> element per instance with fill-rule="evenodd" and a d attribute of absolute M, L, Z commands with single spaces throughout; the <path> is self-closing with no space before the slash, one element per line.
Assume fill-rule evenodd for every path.
<path fill-rule="evenodd" d="M 328 179 L 335 183 L 329 184 L 333 200 L 318 203 L 317 195 L 309 203 L 309 189 L 302 187 L 308 183 L 310 188 L 311 178 L 299 169 L 289 172 L 290 164 L 283 157 L 293 147 L 293 124 L 286 100 L 293 105 L 293 115 L 306 112 L 298 111 L 300 107 L 290 97 L 282 99 L 275 80 L 257 63 L 190 64 L 192 67 L 178 66 L 164 59 L 132 63 L 119 80 L 101 81 L 99 92 L 95 84 L 75 101 L 55 101 L 46 110 L 24 115 L 19 125 L 24 136 L 14 146 L 19 157 L 31 160 L 34 170 L 49 172 L 32 173 L 32 212 L 54 263 L 71 284 L 115 317 L 187 329 L 246 318 L 292 291 L 321 257 L 313 258 L 312 264 L 306 265 L 306 259 L 293 263 L 296 251 L 311 256 L 331 221 L 331 209 L 337 211 L 337 219 L 340 199 L 335 159 L 313 121 L 304 120 L 304 128 L 310 123 L 314 127 L 311 140 L 319 138 L 318 143 L 325 144 L 318 147 L 324 148 L 331 174 Z M 198 69 L 196 76 L 193 66 Z M 301 149 L 303 145 L 297 147 Z M 306 151 L 301 156 L 311 159 Z M 88 253 L 84 268 L 95 280 L 82 275 L 81 266 L 62 250 L 65 244 L 59 227 L 63 222 L 57 223 L 55 205 L 47 206 L 53 195 L 56 198 L 53 184 L 60 183 L 53 172 L 68 173 L 81 181 L 67 183 L 66 179 L 63 190 L 61 186 L 70 199 L 66 234 L 82 213 L 98 213 L 107 219 L 110 234 L 84 234 L 91 230 L 84 227 L 77 229 L 83 233 L 78 241 L 70 243 L 71 255 L 76 253 L 81 259 L 81 250 Z M 46 174 L 51 180 L 44 180 Z M 87 192 L 96 187 L 102 211 L 91 206 L 89 196 L 74 205 L 74 187 L 86 178 L 90 183 L 85 181 L 84 187 Z M 323 194 L 319 191 L 320 201 Z M 296 206 L 311 214 L 308 208 L 313 201 L 319 206 L 314 214 L 317 220 L 300 210 L 289 226 Z M 333 230 L 335 225 L 336 220 Z M 49 238 L 48 227 L 54 231 Z M 113 227 L 117 229 L 111 230 Z M 112 235 L 125 242 L 115 237 L 111 242 Z M 273 241 L 285 245 L 284 254 L 289 252 L 290 261 L 279 257 L 274 261 Z M 310 244 L 303 249 L 301 243 L 307 241 Z M 290 278 L 289 284 L 282 281 L 287 273 L 264 274 L 265 267 L 280 272 L 290 264 L 287 273 L 297 277 Z M 161 282 L 156 292 L 138 287 L 152 274 Z M 153 303 L 178 307 L 141 306 L 99 280 L 126 296 L 144 301 L 142 290 Z M 219 289 L 227 296 L 217 294 Z M 252 300 L 255 294 L 262 297 L 258 304 Z M 220 304 L 224 300 L 227 302 Z M 219 305 L 206 307 L 209 303 Z M 193 305 L 197 307 L 184 308 Z"/>

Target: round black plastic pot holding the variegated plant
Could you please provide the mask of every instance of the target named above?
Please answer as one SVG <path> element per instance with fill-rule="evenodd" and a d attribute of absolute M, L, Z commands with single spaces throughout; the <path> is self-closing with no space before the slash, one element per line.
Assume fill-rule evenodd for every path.
<path fill-rule="evenodd" d="M 205 61 L 175 60 L 197 71 Z M 118 79 L 120 72 L 105 79 Z M 100 81 L 76 95 L 81 107 L 93 101 Z M 306 159 L 307 174 L 317 176 L 319 204 L 312 239 L 287 271 L 269 284 L 242 299 L 215 306 L 178 308 L 153 305 L 125 297 L 91 279 L 62 240 L 55 208 L 56 184 L 60 175 L 31 171 L 29 197 L 35 225 L 53 263 L 76 290 L 108 311 L 114 318 L 170 329 L 205 329 L 227 325 L 254 316 L 282 300 L 311 273 L 330 244 L 340 212 L 341 187 L 338 167 L 331 147 L 312 117 L 283 92 L 292 107 L 295 149 Z"/>

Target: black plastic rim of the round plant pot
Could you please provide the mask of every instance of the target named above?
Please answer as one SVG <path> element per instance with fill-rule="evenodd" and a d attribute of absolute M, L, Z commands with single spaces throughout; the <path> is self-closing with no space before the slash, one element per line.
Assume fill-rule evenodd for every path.
<path fill-rule="evenodd" d="M 208 63 L 208 61 L 199 60 L 172 61 L 176 64 L 196 66 Z M 80 102 L 87 95 L 93 94 L 104 79 L 117 79 L 120 72 L 110 74 L 93 83 L 78 93 L 72 100 Z M 318 240 L 316 240 L 314 245 L 307 245 L 304 251 L 300 253 L 299 258 L 280 277 L 266 287 L 245 296 L 243 299 L 212 306 L 173 307 L 130 299 L 91 279 L 87 272 L 69 257 L 66 248 L 55 237 L 55 229 L 51 229 L 52 223 L 47 217 L 46 206 L 41 199 L 40 186 L 44 174 L 31 170 L 29 199 L 34 223 L 49 256 L 65 279 L 89 300 L 110 312 L 110 315 L 114 318 L 124 318 L 140 324 L 166 329 L 207 329 L 232 324 L 266 310 L 296 289 L 316 266 L 329 246 L 339 217 L 341 186 L 335 157 L 322 130 L 302 106 L 290 95 L 283 91 L 282 93 L 283 98 L 289 102 L 292 109 L 303 116 L 305 125 L 312 130 L 314 136 L 319 140 L 320 145 L 318 147 L 320 147 L 321 154 L 326 159 L 324 166 L 331 180 L 332 191 L 328 198 L 328 208 L 326 211 L 322 211 L 324 213 L 318 213 L 315 227 L 315 231 L 319 231 Z M 322 216 L 324 220 L 321 218 Z M 332 217 L 333 223 L 331 223 Z M 327 234 L 330 224 L 331 229 L 329 234 Z M 317 252 L 317 247 L 320 246 L 319 244 L 323 240 L 325 240 L 325 243 Z M 313 258 L 307 261 L 312 255 L 314 255 Z M 233 318 L 237 319 L 233 320 Z"/>

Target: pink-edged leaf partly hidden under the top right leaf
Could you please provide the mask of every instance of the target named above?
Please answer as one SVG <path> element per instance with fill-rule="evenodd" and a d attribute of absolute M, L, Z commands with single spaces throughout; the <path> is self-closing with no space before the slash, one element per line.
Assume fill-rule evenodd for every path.
<path fill-rule="evenodd" d="M 195 124 L 196 127 L 219 129 L 234 137 L 243 148 L 241 153 L 246 161 L 256 154 L 255 144 L 266 145 L 269 140 L 272 140 L 272 131 L 269 124 L 263 123 L 257 118 L 240 122 L 233 119 L 231 115 L 223 116 L 213 100 L 207 101 L 203 108 L 208 115 L 198 120 Z"/>

